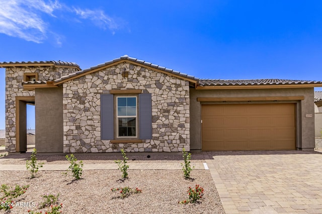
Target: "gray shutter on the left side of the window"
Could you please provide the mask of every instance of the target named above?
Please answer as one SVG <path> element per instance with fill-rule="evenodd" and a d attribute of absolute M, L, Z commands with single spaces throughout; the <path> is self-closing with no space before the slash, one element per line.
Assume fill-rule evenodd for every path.
<path fill-rule="evenodd" d="M 113 94 L 101 94 L 101 140 L 114 139 Z"/>

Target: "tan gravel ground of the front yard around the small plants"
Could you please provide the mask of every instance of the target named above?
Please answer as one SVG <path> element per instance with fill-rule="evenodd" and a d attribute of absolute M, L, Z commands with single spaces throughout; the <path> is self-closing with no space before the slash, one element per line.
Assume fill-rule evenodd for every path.
<path fill-rule="evenodd" d="M 129 161 L 183 161 L 182 154 L 146 154 L 127 153 Z M 108 163 L 121 159 L 120 154 L 97 155 L 75 154 L 84 163 Z M 14 154 L 0 161 L 1 164 L 25 164 L 30 153 Z M 68 164 L 64 155 L 37 155 L 38 160 L 46 164 Z M 192 162 L 203 161 L 202 154 L 193 154 Z M 2 158 L 0 158 L 1 160 Z M 84 170 L 82 179 L 73 180 L 64 176 L 61 171 L 38 171 L 37 177 L 29 179 L 29 171 L 0 171 L 0 184 L 30 187 L 25 194 L 19 196 L 19 202 L 43 202 L 43 194 L 60 194 L 59 203 L 63 204 L 63 213 L 224 213 L 220 198 L 209 170 L 193 170 L 192 180 L 183 178 L 182 170 L 131 170 L 129 178 L 120 181 L 119 170 Z M 188 187 L 199 184 L 204 188 L 204 197 L 200 203 L 178 204 L 179 200 L 188 198 Z M 118 198 L 118 193 L 112 192 L 113 187 L 129 186 L 142 189 L 142 193 L 132 194 L 127 198 Z M 1 194 L 1 193 L 0 193 Z M 16 206 L 8 213 L 28 213 L 28 209 L 36 207 Z M 48 208 L 47 208 L 48 210 Z M 5 213 L 0 210 L 0 213 Z"/>

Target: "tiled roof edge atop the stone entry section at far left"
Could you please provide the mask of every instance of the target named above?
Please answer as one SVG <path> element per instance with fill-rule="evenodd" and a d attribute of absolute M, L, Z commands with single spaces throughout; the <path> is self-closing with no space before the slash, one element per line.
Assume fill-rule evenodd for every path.
<path fill-rule="evenodd" d="M 28 62 L 0 62 L 0 68 L 5 68 L 9 66 L 15 66 L 15 67 L 33 67 L 33 66 L 46 66 L 46 65 L 52 65 L 52 66 L 69 66 L 69 67 L 76 67 L 79 70 L 79 65 L 76 63 L 71 62 L 63 62 L 63 61 L 28 61 Z"/>

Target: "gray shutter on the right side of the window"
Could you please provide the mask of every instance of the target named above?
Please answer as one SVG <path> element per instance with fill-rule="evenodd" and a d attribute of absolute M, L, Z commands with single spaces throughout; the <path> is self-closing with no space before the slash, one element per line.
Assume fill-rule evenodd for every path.
<path fill-rule="evenodd" d="M 152 139 L 151 94 L 139 94 L 139 138 Z"/>

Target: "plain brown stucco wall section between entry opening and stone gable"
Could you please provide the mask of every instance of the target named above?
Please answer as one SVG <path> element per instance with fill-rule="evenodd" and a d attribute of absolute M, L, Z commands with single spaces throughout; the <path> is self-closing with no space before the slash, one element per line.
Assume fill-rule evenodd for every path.
<path fill-rule="evenodd" d="M 62 106 L 62 87 L 36 89 L 35 144 L 38 152 L 63 151 Z"/>

